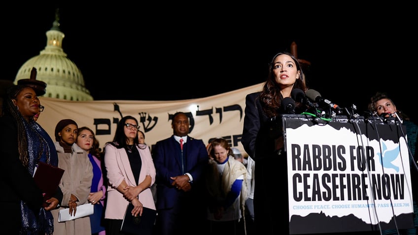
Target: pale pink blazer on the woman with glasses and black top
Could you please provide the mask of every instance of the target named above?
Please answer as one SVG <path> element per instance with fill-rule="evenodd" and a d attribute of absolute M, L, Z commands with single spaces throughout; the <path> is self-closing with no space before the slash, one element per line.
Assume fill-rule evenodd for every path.
<path fill-rule="evenodd" d="M 123 194 L 119 193 L 116 188 L 124 179 L 130 186 L 137 186 L 137 184 L 131 170 L 131 165 L 129 164 L 126 150 L 124 148 L 117 149 L 111 144 L 107 144 L 104 148 L 104 166 L 107 170 L 108 179 L 107 203 L 104 218 L 123 219 L 129 201 L 127 201 L 123 197 Z M 155 182 L 156 171 L 151 152 L 149 148 L 140 149 L 137 146 L 137 149 L 142 161 L 141 171 L 139 173 L 139 183 L 145 179 L 146 175 L 150 175 L 152 186 Z M 154 198 L 150 187 L 139 193 L 139 201 L 143 206 L 155 209 Z"/>

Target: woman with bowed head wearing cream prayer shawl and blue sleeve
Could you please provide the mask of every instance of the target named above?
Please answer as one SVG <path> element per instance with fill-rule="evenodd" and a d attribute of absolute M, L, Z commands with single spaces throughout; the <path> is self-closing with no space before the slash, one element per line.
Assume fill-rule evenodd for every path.
<path fill-rule="evenodd" d="M 209 146 L 207 171 L 208 234 L 244 235 L 247 199 L 246 173 L 226 139 L 216 138 Z"/>

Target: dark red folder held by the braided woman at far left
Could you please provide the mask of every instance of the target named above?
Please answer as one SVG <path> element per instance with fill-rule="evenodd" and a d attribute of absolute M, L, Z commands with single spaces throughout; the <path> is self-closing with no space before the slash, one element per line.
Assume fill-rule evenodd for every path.
<path fill-rule="evenodd" d="M 54 167 L 44 162 L 38 163 L 34 173 L 34 180 L 44 193 L 44 201 L 52 198 L 60 184 L 64 171 L 62 168 Z M 43 206 L 48 206 L 48 203 L 44 202 Z"/>

